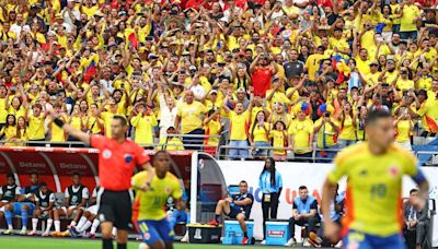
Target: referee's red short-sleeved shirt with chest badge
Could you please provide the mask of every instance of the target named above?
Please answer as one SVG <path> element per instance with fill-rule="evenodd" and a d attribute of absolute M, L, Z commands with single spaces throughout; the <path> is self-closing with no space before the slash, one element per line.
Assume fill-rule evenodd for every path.
<path fill-rule="evenodd" d="M 136 165 L 143 165 L 150 159 L 145 149 L 128 139 L 118 143 L 103 135 L 91 135 L 90 144 L 101 151 L 99 180 L 100 187 L 107 190 L 128 190 Z"/>

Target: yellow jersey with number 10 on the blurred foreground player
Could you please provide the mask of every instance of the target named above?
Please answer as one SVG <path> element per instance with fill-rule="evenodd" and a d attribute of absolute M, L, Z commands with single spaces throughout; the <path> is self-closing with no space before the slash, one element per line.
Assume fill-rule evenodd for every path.
<path fill-rule="evenodd" d="M 416 157 L 399 145 L 387 153 L 373 155 L 368 142 L 342 151 L 328 180 L 337 182 L 346 176 L 346 230 L 387 237 L 401 232 L 403 175 L 416 176 Z"/>

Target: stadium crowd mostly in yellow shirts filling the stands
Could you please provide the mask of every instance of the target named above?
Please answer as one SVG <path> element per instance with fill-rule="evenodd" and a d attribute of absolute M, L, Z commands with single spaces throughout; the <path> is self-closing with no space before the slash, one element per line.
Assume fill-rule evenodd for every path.
<path fill-rule="evenodd" d="M 126 116 L 137 143 L 231 158 L 309 158 L 366 139 L 372 109 L 396 142 L 438 131 L 437 11 L 418 0 L 5 0 L 5 145 L 74 141 Z M 420 127 L 422 130 L 414 127 Z M 186 137 L 181 137 L 186 135 Z M 204 135 L 204 137 L 203 137 Z M 201 142 L 199 142 L 201 138 Z M 315 143 L 313 142 L 315 141 Z M 324 152 L 324 150 L 327 150 Z M 250 154 L 251 152 L 251 154 Z"/>

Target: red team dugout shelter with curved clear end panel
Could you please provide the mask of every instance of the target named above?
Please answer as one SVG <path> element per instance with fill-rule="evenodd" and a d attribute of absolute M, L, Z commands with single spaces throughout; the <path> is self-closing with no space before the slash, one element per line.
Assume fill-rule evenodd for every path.
<path fill-rule="evenodd" d="M 155 151 L 148 151 L 153 156 Z M 226 181 L 217 161 L 196 151 L 170 151 L 171 171 L 181 180 L 189 200 L 192 223 L 206 223 L 218 200 L 226 197 Z M 71 185 L 72 173 L 81 175 L 90 191 L 99 185 L 99 150 L 71 147 L 0 146 L 0 185 L 12 173 L 21 187 L 30 185 L 30 174 L 37 173 L 54 192 L 64 192 Z M 136 170 L 140 170 L 137 168 Z M 192 198 L 196 197 L 196 198 Z"/>

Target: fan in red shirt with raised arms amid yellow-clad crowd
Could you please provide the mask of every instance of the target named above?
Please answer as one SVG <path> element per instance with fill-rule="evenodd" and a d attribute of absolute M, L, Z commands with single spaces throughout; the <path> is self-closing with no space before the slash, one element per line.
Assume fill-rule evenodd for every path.
<path fill-rule="evenodd" d="M 254 95 L 265 97 L 270 88 L 270 80 L 277 73 L 277 66 L 270 59 L 268 52 L 258 54 L 250 66 L 251 78 L 254 86 Z"/>

